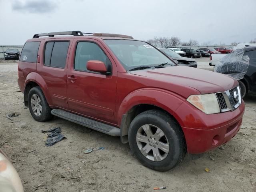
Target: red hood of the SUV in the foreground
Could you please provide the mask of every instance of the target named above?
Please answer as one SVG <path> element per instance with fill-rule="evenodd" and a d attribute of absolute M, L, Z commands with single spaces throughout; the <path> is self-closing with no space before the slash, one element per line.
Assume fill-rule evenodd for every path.
<path fill-rule="evenodd" d="M 230 76 L 186 66 L 156 68 L 150 70 L 131 71 L 131 74 L 148 77 L 150 80 L 168 83 L 170 91 L 184 92 L 186 88 L 194 88 L 201 94 L 224 92 L 238 85 Z M 161 83 L 158 83 L 161 86 Z"/>

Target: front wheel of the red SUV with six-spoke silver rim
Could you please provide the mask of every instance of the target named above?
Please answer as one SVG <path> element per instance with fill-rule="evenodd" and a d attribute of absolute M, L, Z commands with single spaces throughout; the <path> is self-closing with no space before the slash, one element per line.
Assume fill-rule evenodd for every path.
<path fill-rule="evenodd" d="M 152 132 L 149 132 L 148 128 Z M 149 137 L 150 134 L 144 132 L 145 129 L 152 135 L 152 138 Z M 157 132 L 159 134 L 156 134 Z M 160 133 L 164 136 L 161 137 Z M 148 110 L 136 116 L 130 124 L 128 140 L 136 158 L 144 166 L 158 171 L 166 171 L 175 167 L 186 154 L 186 143 L 181 128 L 167 113 L 161 110 Z M 165 152 L 160 150 L 161 146 L 164 146 Z M 168 152 L 166 152 L 167 146 Z M 154 156 L 153 151 L 154 154 L 160 155 Z"/>

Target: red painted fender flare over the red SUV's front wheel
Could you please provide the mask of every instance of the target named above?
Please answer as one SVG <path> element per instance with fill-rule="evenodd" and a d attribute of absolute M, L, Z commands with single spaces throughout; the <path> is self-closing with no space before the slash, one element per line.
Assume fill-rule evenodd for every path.
<path fill-rule="evenodd" d="M 166 110 L 174 116 L 180 126 L 182 126 L 182 120 L 175 111 L 184 101 L 185 98 L 174 94 L 173 92 L 159 88 L 143 88 L 135 90 L 124 98 L 119 107 L 117 115 L 118 125 L 121 125 L 122 115 L 127 114 L 127 112 L 134 106 L 139 104 L 150 104 Z"/>

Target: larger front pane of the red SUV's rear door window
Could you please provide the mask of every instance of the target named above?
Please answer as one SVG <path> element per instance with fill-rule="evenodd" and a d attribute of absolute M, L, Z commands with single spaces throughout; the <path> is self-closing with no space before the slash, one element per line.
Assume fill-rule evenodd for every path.
<path fill-rule="evenodd" d="M 64 68 L 69 42 L 54 42 L 50 66 Z"/>

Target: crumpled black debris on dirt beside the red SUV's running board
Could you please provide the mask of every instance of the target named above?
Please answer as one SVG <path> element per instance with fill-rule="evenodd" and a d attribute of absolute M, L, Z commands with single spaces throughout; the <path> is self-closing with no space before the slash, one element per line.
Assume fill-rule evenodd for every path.
<path fill-rule="evenodd" d="M 45 146 L 52 146 L 55 143 L 59 142 L 60 140 L 66 138 L 64 137 L 64 135 L 60 134 L 61 129 L 60 127 L 57 128 L 52 128 L 50 130 L 42 130 L 42 133 L 46 133 L 46 132 L 51 132 L 50 134 L 48 134 L 48 138 L 46 139 L 46 143 Z"/>

